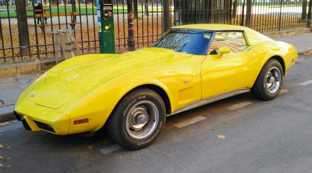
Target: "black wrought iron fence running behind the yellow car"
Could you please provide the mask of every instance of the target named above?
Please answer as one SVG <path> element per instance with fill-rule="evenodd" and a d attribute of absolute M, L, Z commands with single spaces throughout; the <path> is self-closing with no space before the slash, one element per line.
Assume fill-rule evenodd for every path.
<path fill-rule="evenodd" d="M 49 3 L 48 3 L 49 2 Z M 128 8 L 114 0 L 115 49 L 128 40 Z M 311 27 L 309 0 L 132 0 L 137 48 L 182 24 L 235 24 L 261 33 Z M 24 5 L 23 5 L 24 4 Z M 40 4 L 43 6 L 40 8 Z M 38 7 L 39 6 L 39 7 Z M 93 0 L 3 0 L 0 3 L 0 64 L 55 57 L 53 30 L 72 29 L 79 54 L 99 53 Z"/>

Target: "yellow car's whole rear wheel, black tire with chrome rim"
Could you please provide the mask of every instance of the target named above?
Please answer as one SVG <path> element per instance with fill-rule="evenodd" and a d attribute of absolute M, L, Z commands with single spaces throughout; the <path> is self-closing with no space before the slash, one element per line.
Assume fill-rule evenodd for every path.
<path fill-rule="evenodd" d="M 252 86 L 252 93 L 261 100 L 272 100 L 281 91 L 283 82 L 284 71 L 281 64 L 275 59 L 268 60 Z"/>

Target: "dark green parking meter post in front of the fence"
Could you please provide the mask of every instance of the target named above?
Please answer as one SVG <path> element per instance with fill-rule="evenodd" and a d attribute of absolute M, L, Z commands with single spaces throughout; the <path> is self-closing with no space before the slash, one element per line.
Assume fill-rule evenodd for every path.
<path fill-rule="evenodd" d="M 96 0 L 100 53 L 115 53 L 112 0 Z"/>

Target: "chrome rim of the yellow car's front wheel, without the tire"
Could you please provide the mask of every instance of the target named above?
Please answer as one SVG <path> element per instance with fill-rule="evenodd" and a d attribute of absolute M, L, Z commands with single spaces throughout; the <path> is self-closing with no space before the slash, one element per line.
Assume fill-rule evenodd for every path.
<path fill-rule="evenodd" d="M 141 140 L 155 131 L 159 120 L 159 111 L 153 102 L 137 102 L 128 111 L 125 129 L 131 138 Z"/>

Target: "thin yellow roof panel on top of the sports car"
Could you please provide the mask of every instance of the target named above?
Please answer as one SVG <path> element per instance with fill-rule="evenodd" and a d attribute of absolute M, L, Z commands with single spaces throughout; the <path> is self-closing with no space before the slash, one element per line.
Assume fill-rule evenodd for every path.
<path fill-rule="evenodd" d="M 191 24 L 174 26 L 171 29 L 196 29 L 196 30 L 250 30 L 244 26 L 228 25 L 228 24 Z"/>

